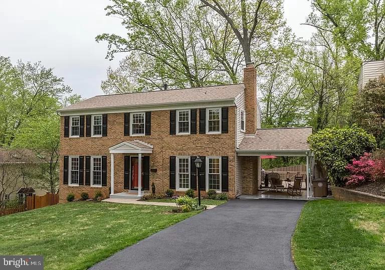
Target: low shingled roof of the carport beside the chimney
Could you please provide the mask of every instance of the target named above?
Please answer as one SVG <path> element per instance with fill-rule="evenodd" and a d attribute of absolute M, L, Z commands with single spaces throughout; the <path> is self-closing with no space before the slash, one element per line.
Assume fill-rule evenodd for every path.
<path fill-rule="evenodd" d="M 259 128 L 246 135 L 237 153 L 239 156 L 307 156 L 310 147 L 307 138 L 312 127 Z"/>

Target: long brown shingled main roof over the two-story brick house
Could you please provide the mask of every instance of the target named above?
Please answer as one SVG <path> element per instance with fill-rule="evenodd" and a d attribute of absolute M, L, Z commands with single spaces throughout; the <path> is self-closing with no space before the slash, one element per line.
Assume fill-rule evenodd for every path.
<path fill-rule="evenodd" d="M 100 95 L 61 108 L 58 111 L 64 112 L 83 109 L 140 107 L 161 104 L 167 105 L 172 103 L 234 100 L 244 88 L 244 84 L 241 83 L 151 92 Z"/>

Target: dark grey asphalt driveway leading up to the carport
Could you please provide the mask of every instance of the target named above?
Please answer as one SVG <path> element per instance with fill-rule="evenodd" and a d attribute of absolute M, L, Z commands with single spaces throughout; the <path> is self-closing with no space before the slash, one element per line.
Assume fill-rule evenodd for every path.
<path fill-rule="evenodd" d="M 303 205 L 233 200 L 155 233 L 91 269 L 295 269 L 290 238 Z"/>

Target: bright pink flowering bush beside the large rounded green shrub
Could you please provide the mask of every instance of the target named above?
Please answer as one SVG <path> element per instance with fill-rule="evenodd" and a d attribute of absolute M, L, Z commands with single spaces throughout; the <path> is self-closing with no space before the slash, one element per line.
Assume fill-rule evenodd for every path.
<path fill-rule="evenodd" d="M 375 162 L 371 159 L 370 153 L 364 153 L 359 160 L 353 159 L 351 164 L 346 165 L 349 176 L 346 177 L 346 185 L 361 185 L 372 180 L 371 174 Z"/>

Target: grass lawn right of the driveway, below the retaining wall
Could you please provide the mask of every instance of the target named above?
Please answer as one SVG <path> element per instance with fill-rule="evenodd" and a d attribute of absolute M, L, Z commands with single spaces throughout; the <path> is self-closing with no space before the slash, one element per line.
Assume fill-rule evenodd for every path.
<path fill-rule="evenodd" d="M 385 269 L 385 205 L 305 204 L 292 238 L 298 269 Z"/>

